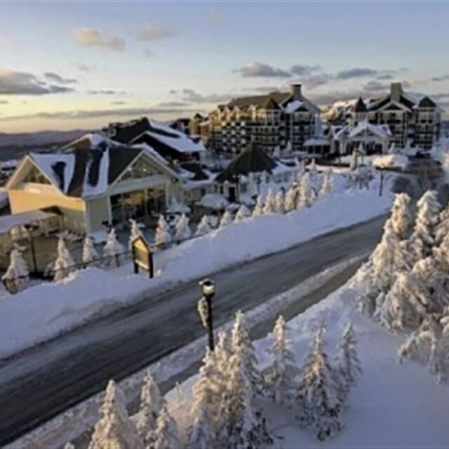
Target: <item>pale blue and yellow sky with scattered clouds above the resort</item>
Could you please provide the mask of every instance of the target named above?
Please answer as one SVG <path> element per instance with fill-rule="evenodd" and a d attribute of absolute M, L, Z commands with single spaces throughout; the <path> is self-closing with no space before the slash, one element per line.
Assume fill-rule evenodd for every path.
<path fill-rule="evenodd" d="M 449 110 L 449 3 L 0 1 L 0 133 L 207 113 L 301 82 L 321 106 L 393 81 Z"/>

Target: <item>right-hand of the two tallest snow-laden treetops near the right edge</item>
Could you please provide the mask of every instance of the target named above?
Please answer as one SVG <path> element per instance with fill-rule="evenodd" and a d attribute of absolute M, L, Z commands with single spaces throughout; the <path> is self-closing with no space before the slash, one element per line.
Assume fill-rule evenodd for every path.
<path fill-rule="evenodd" d="M 410 237 L 410 250 L 415 260 L 431 255 L 431 250 L 436 244 L 441 210 L 437 195 L 435 190 L 428 190 L 417 202 L 415 228 Z"/>

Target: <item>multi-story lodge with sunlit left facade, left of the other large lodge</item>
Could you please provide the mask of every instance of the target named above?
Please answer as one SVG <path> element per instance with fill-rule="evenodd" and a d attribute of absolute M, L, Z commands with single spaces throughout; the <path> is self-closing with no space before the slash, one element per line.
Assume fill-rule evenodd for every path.
<path fill-rule="evenodd" d="M 299 83 L 290 92 L 234 98 L 209 114 L 208 146 L 229 154 L 242 152 L 249 142 L 269 154 L 276 148 L 302 151 L 316 135 L 320 112 L 302 95 Z"/>

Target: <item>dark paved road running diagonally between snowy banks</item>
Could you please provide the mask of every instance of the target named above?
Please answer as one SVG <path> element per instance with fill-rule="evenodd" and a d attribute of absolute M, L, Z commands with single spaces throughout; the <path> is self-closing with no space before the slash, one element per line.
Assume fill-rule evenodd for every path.
<path fill-rule="evenodd" d="M 224 323 L 326 267 L 362 255 L 379 240 L 385 217 L 326 234 L 213 276 L 214 318 Z M 0 366 L 0 445 L 200 335 L 199 287 L 148 298 L 86 324 Z"/>

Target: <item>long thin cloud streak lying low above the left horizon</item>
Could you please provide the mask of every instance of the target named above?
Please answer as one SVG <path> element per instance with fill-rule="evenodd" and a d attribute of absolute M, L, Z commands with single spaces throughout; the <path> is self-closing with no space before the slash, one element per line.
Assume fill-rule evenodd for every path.
<path fill-rule="evenodd" d="M 61 112 L 36 112 L 35 114 L 4 116 L 0 121 L 27 120 L 27 119 L 51 119 L 51 120 L 73 120 L 73 119 L 98 119 L 102 117 L 120 117 L 120 116 L 142 116 L 152 114 L 185 114 L 186 112 L 194 114 L 195 112 L 204 112 L 202 109 L 182 109 L 182 108 L 161 108 L 161 107 L 123 107 L 115 109 L 97 109 L 86 110 L 77 109 L 74 111 Z"/>

